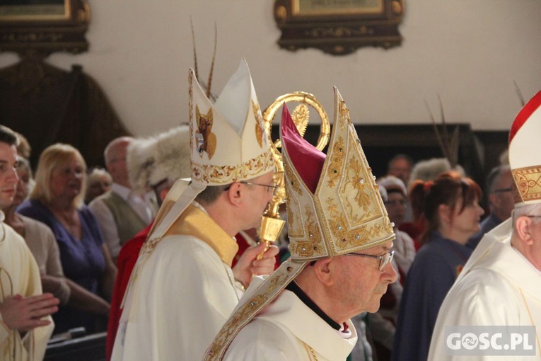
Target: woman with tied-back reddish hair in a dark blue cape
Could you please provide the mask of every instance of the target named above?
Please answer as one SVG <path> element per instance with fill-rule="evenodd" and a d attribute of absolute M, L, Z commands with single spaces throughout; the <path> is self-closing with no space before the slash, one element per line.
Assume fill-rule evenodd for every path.
<path fill-rule="evenodd" d="M 392 360 L 425 361 L 438 311 L 472 253 L 465 244 L 479 231 L 484 211 L 479 185 L 453 172 L 415 181 L 410 197 L 428 227 L 402 293 Z"/>

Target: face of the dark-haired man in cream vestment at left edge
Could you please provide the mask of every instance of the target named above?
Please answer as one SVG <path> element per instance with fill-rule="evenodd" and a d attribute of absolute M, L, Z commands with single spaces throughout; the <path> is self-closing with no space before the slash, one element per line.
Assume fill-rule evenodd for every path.
<path fill-rule="evenodd" d="M 14 145 L 0 142 L 0 208 L 9 207 L 17 188 L 17 149 Z"/>

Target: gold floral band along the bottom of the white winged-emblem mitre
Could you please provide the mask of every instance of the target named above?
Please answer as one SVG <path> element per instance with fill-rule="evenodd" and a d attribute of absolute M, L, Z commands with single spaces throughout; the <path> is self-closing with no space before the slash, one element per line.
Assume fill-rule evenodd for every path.
<path fill-rule="evenodd" d="M 214 166 L 197 164 L 192 161 L 192 180 L 204 183 L 228 184 L 239 179 L 257 176 L 265 169 L 270 171 L 273 167 L 274 159 L 270 149 L 238 166 Z"/>

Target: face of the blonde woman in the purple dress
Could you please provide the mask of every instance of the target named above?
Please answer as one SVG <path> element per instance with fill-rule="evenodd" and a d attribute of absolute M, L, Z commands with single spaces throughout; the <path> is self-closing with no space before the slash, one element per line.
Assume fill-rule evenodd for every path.
<path fill-rule="evenodd" d="M 71 156 L 65 164 L 54 167 L 50 186 L 54 197 L 73 200 L 81 193 L 85 168 L 76 156 Z"/>

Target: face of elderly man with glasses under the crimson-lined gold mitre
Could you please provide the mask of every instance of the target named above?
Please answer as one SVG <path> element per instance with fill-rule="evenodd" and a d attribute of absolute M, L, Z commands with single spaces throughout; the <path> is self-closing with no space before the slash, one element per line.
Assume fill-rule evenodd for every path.
<path fill-rule="evenodd" d="M 383 245 L 359 251 L 373 256 L 380 256 L 390 251 L 392 241 Z M 379 269 L 380 260 L 341 256 L 339 257 L 339 281 L 337 293 L 342 303 L 344 315 L 351 318 L 363 311 L 376 312 L 380 308 L 380 299 L 387 292 L 387 286 L 397 280 L 392 263 Z"/>

